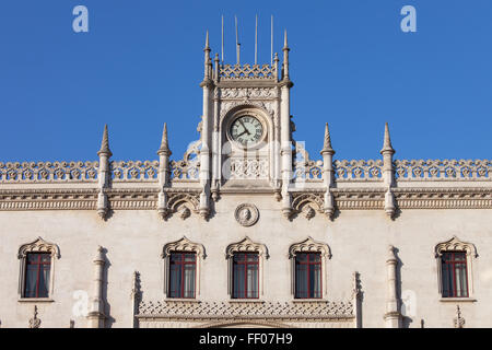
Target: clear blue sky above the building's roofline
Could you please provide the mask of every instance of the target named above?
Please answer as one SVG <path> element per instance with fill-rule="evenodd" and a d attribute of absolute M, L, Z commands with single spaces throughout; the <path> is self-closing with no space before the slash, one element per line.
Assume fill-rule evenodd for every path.
<path fill-rule="evenodd" d="M 90 32 L 72 31 L 89 9 Z M 417 9 L 417 33 L 400 9 Z M 330 125 L 336 159 L 377 159 L 384 122 L 398 159 L 492 155 L 492 1 L 2 0 L 0 161 L 95 160 L 104 124 L 115 160 L 153 160 L 168 124 L 173 159 L 198 138 L 203 44 L 234 62 L 291 47 L 294 138 L 319 159 Z"/>

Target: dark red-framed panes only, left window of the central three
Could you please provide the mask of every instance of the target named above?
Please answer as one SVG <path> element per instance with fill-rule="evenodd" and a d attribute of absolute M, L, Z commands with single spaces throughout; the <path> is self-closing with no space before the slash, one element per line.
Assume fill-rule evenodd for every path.
<path fill-rule="evenodd" d="M 197 255 L 195 253 L 171 253 L 169 298 L 195 298 Z"/>

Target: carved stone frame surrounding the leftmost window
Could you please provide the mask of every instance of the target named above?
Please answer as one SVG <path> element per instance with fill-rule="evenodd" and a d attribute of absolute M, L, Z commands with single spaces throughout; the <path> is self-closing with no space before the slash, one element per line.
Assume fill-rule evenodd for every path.
<path fill-rule="evenodd" d="M 27 278 L 27 255 L 28 254 L 49 254 L 50 256 L 50 269 L 49 269 L 49 280 L 48 280 L 48 296 L 47 298 L 32 298 L 25 296 L 25 287 L 26 287 L 26 278 Z M 19 301 L 26 302 L 39 302 L 39 301 L 52 301 L 52 295 L 55 292 L 55 267 L 56 259 L 60 258 L 60 249 L 58 245 L 54 243 L 46 242 L 42 237 L 37 237 L 35 241 L 23 244 L 19 248 L 17 258 L 20 260 L 20 272 L 19 272 L 19 289 L 17 296 Z"/>

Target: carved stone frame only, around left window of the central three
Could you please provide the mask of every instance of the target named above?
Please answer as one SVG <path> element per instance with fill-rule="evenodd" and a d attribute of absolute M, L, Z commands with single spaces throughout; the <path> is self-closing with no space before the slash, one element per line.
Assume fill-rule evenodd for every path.
<path fill-rule="evenodd" d="M 195 298 L 171 298 L 171 254 L 173 253 L 195 253 Z M 161 276 L 163 277 L 163 294 L 164 299 L 169 301 L 192 301 L 200 296 L 200 284 L 201 284 L 201 264 L 207 257 L 204 246 L 199 243 L 189 241 L 186 236 L 183 238 L 171 242 L 164 245 L 161 257 L 163 258 L 163 271 Z"/>

